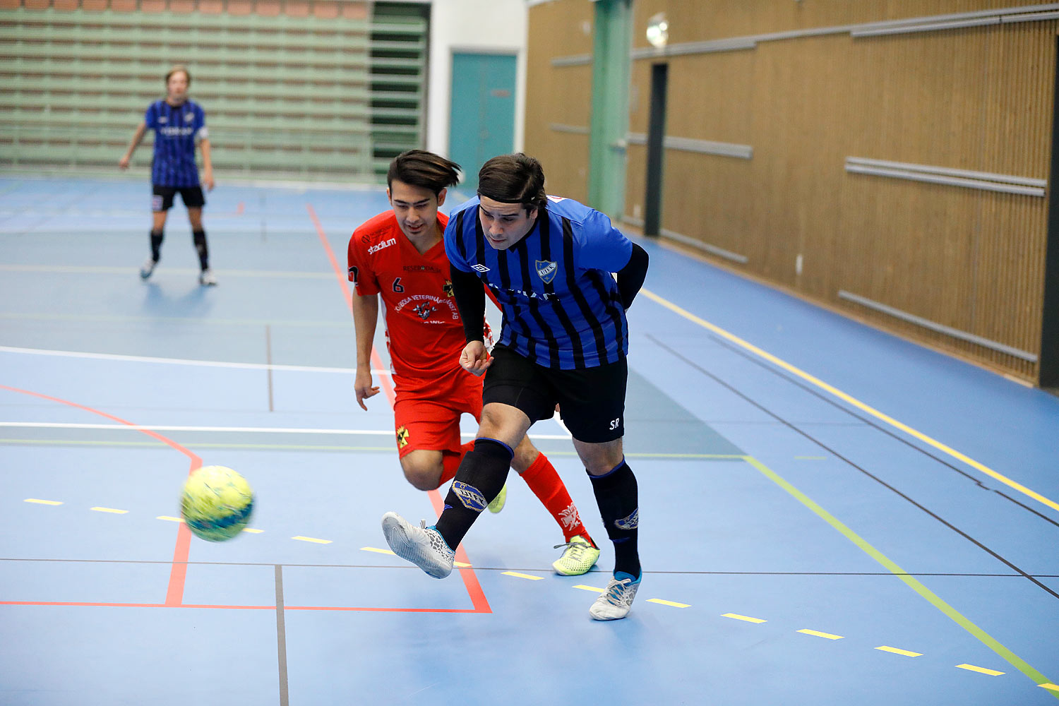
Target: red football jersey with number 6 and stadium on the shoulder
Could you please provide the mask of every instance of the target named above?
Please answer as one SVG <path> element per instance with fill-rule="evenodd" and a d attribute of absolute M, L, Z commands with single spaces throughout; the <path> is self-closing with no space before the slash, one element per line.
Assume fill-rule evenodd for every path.
<path fill-rule="evenodd" d="M 437 214 L 444 231 L 448 216 Z M 349 280 L 362 296 L 380 294 L 393 372 L 417 378 L 451 373 L 467 344 L 452 295 L 445 243 L 420 255 L 387 211 L 353 232 Z"/>

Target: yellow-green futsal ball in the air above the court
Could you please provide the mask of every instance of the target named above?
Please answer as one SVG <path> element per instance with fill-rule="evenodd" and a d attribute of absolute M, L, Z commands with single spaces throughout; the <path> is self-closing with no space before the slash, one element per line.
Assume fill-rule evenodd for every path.
<path fill-rule="evenodd" d="M 225 466 L 203 466 L 193 472 L 180 497 L 187 528 L 210 542 L 223 542 L 243 531 L 253 509 L 250 484 Z"/>

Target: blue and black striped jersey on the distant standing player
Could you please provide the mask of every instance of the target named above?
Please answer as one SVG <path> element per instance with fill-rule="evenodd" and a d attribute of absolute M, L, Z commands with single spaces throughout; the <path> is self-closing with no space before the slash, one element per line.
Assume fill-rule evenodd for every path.
<path fill-rule="evenodd" d="M 208 137 L 202 107 L 194 101 L 179 106 L 156 101 L 147 107 L 143 120 L 155 130 L 150 183 L 178 188 L 198 186 L 195 142 Z"/>

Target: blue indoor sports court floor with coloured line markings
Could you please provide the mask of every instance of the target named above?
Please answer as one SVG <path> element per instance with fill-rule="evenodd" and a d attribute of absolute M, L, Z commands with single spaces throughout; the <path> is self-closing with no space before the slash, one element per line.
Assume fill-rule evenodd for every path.
<path fill-rule="evenodd" d="M 389 388 L 353 398 L 345 245 L 379 189 L 221 183 L 210 289 L 181 205 L 140 280 L 148 203 L 0 179 L 0 703 L 1059 699 L 1059 399 L 641 241 L 645 574 L 596 622 L 609 544 L 551 573 L 514 474 L 448 579 L 383 551 L 384 511 L 439 496 L 401 476 Z M 564 429 L 533 436 L 605 540 Z M 200 464 L 254 486 L 234 541 L 175 518 Z"/>

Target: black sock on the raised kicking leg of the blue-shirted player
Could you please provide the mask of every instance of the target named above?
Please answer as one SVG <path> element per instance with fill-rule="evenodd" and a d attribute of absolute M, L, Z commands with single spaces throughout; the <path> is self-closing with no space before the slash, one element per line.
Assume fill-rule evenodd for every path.
<path fill-rule="evenodd" d="M 437 519 L 437 531 L 451 548 L 456 548 L 482 510 L 500 494 L 514 455 L 502 441 L 474 439 L 474 449 L 460 461 L 445 496 L 445 510 Z"/>

